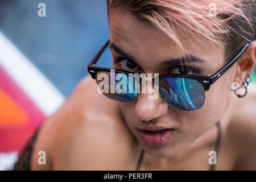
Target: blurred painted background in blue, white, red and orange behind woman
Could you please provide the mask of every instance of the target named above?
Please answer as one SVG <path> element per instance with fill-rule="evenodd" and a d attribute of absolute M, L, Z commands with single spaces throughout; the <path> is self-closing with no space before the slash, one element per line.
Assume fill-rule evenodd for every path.
<path fill-rule="evenodd" d="M 46 17 L 38 16 L 41 2 Z M 105 1 L 0 1 L 0 170 L 13 168 L 108 38 Z M 256 82 L 256 70 L 251 77 Z"/>

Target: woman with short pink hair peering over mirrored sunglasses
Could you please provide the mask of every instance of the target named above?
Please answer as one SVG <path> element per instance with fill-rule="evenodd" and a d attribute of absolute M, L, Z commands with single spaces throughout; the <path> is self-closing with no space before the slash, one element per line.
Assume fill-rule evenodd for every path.
<path fill-rule="evenodd" d="M 255 170 L 255 1 L 107 5 L 113 68 L 159 73 L 159 97 L 97 92 L 98 53 L 88 66 L 97 82 L 86 76 L 43 123 L 31 168 Z"/>

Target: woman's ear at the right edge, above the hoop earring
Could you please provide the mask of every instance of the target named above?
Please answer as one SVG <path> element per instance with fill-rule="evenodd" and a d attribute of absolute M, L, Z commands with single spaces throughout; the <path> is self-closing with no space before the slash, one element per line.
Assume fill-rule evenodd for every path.
<path fill-rule="evenodd" d="M 256 40 L 250 43 L 250 45 L 246 48 L 243 55 L 240 57 L 236 64 L 236 76 L 234 77 L 234 81 L 245 82 L 245 78 L 248 77 L 247 74 L 251 75 L 253 69 L 255 67 L 256 62 Z"/>

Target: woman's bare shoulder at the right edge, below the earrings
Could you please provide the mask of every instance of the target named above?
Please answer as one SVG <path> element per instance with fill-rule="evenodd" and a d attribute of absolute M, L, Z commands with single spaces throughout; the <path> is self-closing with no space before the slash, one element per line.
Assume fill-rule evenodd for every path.
<path fill-rule="evenodd" d="M 229 141 L 237 152 L 234 169 L 256 170 L 256 85 L 249 84 L 247 95 L 238 98 L 228 127 Z"/>

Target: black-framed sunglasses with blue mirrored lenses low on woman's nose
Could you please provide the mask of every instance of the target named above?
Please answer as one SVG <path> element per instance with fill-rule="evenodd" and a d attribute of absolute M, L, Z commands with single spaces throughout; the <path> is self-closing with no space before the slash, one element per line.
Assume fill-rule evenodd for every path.
<path fill-rule="evenodd" d="M 164 74 L 158 76 L 158 92 L 160 97 L 171 107 L 174 107 L 179 110 L 197 110 L 200 109 L 205 102 L 205 96 L 207 90 L 209 90 L 210 85 L 212 85 L 218 78 L 220 78 L 229 68 L 232 67 L 234 63 L 241 57 L 242 53 L 245 52 L 245 49 L 249 46 L 250 43 L 247 43 L 241 51 L 224 67 L 219 69 L 213 75 L 201 76 L 201 75 L 181 75 L 181 74 Z M 93 79 L 96 79 L 96 82 L 99 86 L 100 80 L 97 77 L 103 73 L 104 75 L 110 77 L 116 77 L 119 73 L 124 75 L 122 79 L 125 79 L 127 89 L 129 93 L 120 92 L 117 90 L 119 81 L 115 80 L 114 82 L 109 81 L 108 86 L 117 86 L 115 87 L 115 92 L 104 93 L 104 95 L 112 100 L 120 102 L 129 102 L 133 101 L 137 96 L 138 92 L 135 92 L 136 85 L 140 85 L 142 79 L 136 79 L 131 76 L 133 72 L 123 71 L 121 69 L 105 68 L 98 67 L 96 63 L 100 59 L 102 53 L 109 45 L 109 40 L 100 48 L 100 50 L 93 57 L 88 65 L 88 72 Z M 110 70 L 112 69 L 112 70 Z M 152 81 L 155 83 L 155 77 L 152 78 Z M 119 91 L 119 92 L 118 92 Z"/>

